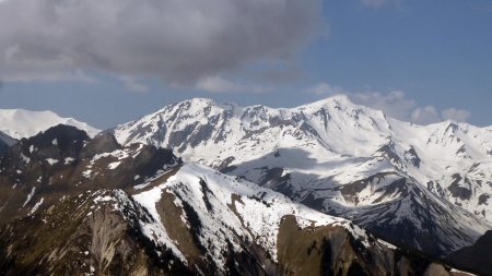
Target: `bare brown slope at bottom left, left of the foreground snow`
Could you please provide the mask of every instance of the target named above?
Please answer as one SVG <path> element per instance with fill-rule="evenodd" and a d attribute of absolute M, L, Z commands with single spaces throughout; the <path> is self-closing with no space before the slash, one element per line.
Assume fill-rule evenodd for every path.
<path fill-rule="evenodd" d="M 1 274 L 191 275 L 179 262 L 171 265 L 171 254 L 169 266 L 161 263 L 139 219 L 149 219 L 147 211 L 122 191 L 63 197 L 0 228 Z"/>

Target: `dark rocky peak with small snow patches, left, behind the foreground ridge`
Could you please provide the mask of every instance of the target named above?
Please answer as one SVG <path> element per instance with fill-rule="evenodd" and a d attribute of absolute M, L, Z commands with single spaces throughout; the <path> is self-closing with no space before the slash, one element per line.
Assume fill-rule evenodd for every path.
<path fill-rule="evenodd" d="M 94 189 L 129 189 L 180 163 L 168 149 L 121 147 L 112 134 L 91 140 L 57 125 L 23 139 L 0 157 L 0 225 L 59 199 Z"/>

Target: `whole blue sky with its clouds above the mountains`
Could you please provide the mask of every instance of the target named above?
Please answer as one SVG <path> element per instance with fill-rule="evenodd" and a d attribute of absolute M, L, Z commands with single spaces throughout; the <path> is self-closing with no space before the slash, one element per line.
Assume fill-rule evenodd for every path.
<path fill-rule="evenodd" d="M 33 4 L 16 1 L 0 2 L 0 25 L 2 10 L 14 14 Z M 49 8 L 50 1 L 39 1 Z M 107 4 L 97 10 L 113 14 L 112 1 L 104 0 Z M 141 20 L 131 14 L 133 8 L 122 13 L 131 19 L 125 20 L 127 25 L 98 23 L 94 15 L 94 27 L 81 31 L 87 19 L 73 7 L 61 9 L 71 13 L 68 23 L 65 14 L 56 14 L 54 23 L 37 12 L 31 17 L 39 15 L 38 22 L 21 20 L 12 32 L 0 27 L 0 108 L 50 109 L 105 129 L 191 97 L 293 107 L 344 93 L 402 120 L 492 124 L 490 1 L 279 0 L 281 12 L 271 3 L 253 4 L 261 1 L 210 3 L 223 7 L 223 1 L 230 1 L 229 9 L 188 1 L 187 7 L 171 7 L 177 11 L 172 15 L 155 14 L 169 17 L 167 24 L 191 21 L 176 28 Z M 247 12 L 236 22 L 242 9 Z M 190 20 L 189 10 L 201 17 Z M 141 14 L 152 19 L 149 11 Z M 213 32 L 188 32 L 186 27 L 197 29 L 194 21 Z M 97 24 L 110 35 L 95 31 Z M 78 32 L 87 34 L 86 40 Z M 183 44 L 169 45 L 172 38 Z M 91 55 L 83 56 L 85 51 Z M 93 56 L 98 59 L 87 58 Z"/>

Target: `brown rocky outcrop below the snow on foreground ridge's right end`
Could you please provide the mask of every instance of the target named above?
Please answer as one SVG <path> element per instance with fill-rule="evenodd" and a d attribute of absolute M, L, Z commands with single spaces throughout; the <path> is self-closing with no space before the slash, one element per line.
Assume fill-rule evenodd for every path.
<path fill-rule="evenodd" d="M 431 266 L 400 250 L 365 250 L 342 227 L 298 229 L 292 216 L 282 220 L 278 247 L 281 275 L 423 275 Z"/>

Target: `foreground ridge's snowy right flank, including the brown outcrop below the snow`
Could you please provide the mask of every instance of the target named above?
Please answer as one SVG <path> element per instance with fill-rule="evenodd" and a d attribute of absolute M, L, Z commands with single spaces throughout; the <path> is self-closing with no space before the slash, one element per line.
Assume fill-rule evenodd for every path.
<path fill-rule="evenodd" d="M 405 266 L 409 275 L 419 275 L 430 265 L 429 261 L 410 260 L 408 255 L 401 260 L 402 252 L 388 251 L 348 220 L 200 165 L 185 165 L 164 183 L 139 187 L 133 199 L 157 221 L 144 225 L 148 237 L 154 237 L 156 243 L 160 237 L 166 248 L 188 262 L 195 251 L 180 247 L 189 238 L 179 233 L 194 229 L 191 239 L 201 244 L 200 250 L 220 274 L 232 273 L 226 256 L 241 251 L 256 255 L 256 262 L 259 257 L 260 267 L 270 275 L 385 275 L 402 273 L 399 269 Z M 176 207 L 181 211 L 176 213 Z M 169 230 L 176 227 L 176 216 L 183 221 L 181 230 Z M 256 274 L 241 267 L 244 260 L 233 263 L 242 275 Z"/>

